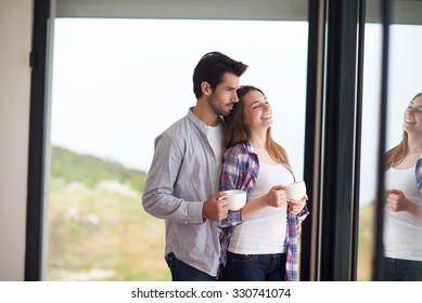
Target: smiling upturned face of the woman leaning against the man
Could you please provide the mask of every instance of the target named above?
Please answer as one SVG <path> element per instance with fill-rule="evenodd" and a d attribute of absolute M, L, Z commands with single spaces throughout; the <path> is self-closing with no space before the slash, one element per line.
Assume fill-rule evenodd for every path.
<path fill-rule="evenodd" d="M 259 91 L 248 92 L 242 102 L 245 122 L 251 130 L 267 130 L 272 126 L 271 106 Z"/>

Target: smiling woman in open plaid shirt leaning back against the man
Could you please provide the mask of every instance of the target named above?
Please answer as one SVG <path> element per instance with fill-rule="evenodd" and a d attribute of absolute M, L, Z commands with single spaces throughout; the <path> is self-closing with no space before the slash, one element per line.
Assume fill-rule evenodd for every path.
<path fill-rule="evenodd" d="M 285 186 L 295 179 L 271 137 L 272 110 L 263 91 L 241 87 L 238 96 L 225 119 L 221 190 L 244 189 L 247 203 L 220 223 L 222 279 L 297 280 L 296 224 L 308 213 L 307 196 L 287 201 Z"/>

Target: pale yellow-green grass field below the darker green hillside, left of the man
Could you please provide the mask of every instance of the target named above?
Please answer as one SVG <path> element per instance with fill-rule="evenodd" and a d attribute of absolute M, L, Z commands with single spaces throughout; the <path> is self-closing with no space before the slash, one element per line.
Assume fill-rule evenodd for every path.
<path fill-rule="evenodd" d="M 164 221 L 145 213 L 140 197 L 57 184 L 49 199 L 48 280 L 169 280 Z"/>

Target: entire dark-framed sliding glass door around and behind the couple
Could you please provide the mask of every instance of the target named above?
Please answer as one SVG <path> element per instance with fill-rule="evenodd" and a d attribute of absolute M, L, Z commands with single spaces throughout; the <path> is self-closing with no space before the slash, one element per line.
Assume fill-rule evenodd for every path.
<path fill-rule="evenodd" d="M 420 92 L 421 2 L 35 2 L 26 279 L 169 279 L 143 182 L 216 50 L 250 65 L 241 84 L 266 92 L 308 185 L 300 279 L 380 279 L 384 154 Z"/>

